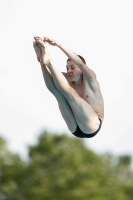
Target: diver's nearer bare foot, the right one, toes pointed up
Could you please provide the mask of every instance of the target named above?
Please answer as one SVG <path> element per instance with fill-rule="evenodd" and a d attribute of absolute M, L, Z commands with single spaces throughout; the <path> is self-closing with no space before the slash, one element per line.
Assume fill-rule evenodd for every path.
<path fill-rule="evenodd" d="M 42 54 L 41 54 L 40 62 L 43 64 L 49 63 L 50 54 L 49 54 L 46 43 L 40 37 L 34 37 L 34 39 L 36 40 L 36 42 L 39 44 L 39 47 L 41 48 Z"/>

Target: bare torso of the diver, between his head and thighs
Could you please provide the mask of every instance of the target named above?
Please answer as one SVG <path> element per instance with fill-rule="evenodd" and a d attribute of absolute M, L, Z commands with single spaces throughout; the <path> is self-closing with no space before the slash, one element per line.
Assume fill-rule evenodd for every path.
<path fill-rule="evenodd" d="M 97 116 L 103 121 L 104 101 L 98 81 L 96 79 L 94 81 L 89 81 L 83 76 L 82 84 L 79 86 L 69 82 L 67 73 L 63 72 L 63 75 L 66 77 L 69 85 L 81 98 L 91 105 Z"/>

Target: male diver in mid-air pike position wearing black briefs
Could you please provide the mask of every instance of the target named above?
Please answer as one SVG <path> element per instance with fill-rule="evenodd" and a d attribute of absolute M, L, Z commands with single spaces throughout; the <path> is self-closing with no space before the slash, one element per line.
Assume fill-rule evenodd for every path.
<path fill-rule="evenodd" d="M 45 84 L 58 101 L 70 132 L 79 138 L 95 136 L 104 119 L 104 101 L 96 74 L 85 59 L 58 41 L 34 37 L 33 47 L 40 62 Z M 61 49 L 68 57 L 66 73 L 54 65 L 47 43 Z"/>

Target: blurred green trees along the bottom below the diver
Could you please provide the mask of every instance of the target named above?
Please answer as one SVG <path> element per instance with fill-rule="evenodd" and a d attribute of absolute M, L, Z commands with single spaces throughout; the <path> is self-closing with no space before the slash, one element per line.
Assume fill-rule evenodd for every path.
<path fill-rule="evenodd" d="M 44 131 L 28 160 L 0 138 L 0 200 L 131 200 L 131 156 L 96 154 L 83 140 Z"/>

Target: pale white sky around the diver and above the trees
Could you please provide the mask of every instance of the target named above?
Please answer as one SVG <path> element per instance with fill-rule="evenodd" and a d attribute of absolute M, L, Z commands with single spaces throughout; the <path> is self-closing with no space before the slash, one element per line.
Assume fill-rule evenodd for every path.
<path fill-rule="evenodd" d="M 40 35 L 82 55 L 97 74 L 105 120 L 87 145 L 133 154 L 132 11 L 132 0 L 0 0 L 0 134 L 12 151 L 25 155 L 44 129 L 71 135 L 36 60 L 32 41 Z M 67 57 L 49 50 L 65 71 Z"/>

